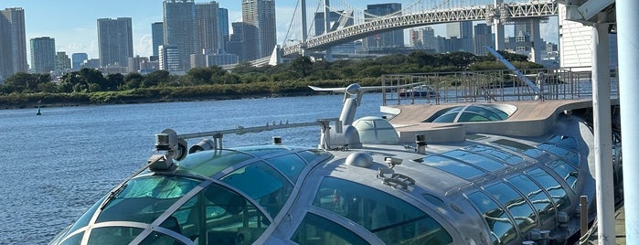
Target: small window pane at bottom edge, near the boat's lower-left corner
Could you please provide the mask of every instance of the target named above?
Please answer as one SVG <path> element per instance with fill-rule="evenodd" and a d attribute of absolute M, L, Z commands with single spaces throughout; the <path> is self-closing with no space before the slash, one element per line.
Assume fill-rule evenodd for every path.
<path fill-rule="evenodd" d="M 143 229 L 131 227 L 103 227 L 91 230 L 89 244 L 128 244 Z"/>

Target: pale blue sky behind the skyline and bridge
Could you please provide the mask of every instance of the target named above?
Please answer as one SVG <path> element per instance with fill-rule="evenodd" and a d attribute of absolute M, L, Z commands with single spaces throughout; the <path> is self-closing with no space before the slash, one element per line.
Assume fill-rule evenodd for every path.
<path fill-rule="evenodd" d="M 133 18 L 133 50 L 140 56 L 152 54 L 151 23 L 162 21 L 163 0 L 0 0 L 0 9 L 22 7 L 25 9 L 27 42 L 33 37 L 53 37 L 57 51 L 88 53 L 98 57 L 98 18 Z M 196 0 L 196 2 L 208 2 Z M 229 22 L 241 20 L 240 0 L 218 0 L 220 7 L 229 9 Z M 278 23 L 278 42 L 285 39 L 293 16 L 296 0 L 275 0 Z M 312 3 L 315 0 L 307 0 Z M 357 5 L 388 1 L 349 0 Z M 392 1 L 410 2 L 410 0 Z M 356 4 L 354 4 L 356 5 Z M 309 12 L 314 9 L 308 9 Z M 542 27 L 543 29 L 544 27 Z M 437 35 L 444 36 L 441 28 Z M 29 49 L 29 48 L 27 48 Z M 28 50 L 27 50 L 28 52 Z"/>

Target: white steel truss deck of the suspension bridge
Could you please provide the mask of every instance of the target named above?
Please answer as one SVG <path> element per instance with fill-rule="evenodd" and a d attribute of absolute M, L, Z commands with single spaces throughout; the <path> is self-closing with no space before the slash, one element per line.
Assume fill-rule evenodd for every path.
<path fill-rule="evenodd" d="M 354 41 L 380 32 L 410 27 L 421 27 L 456 21 L 485 20 L 492 23 L 495 18 L 503 23 L 522 18 L 545 18 L 558 15 L 558 4 L 554 0 L 530 3 L 469 6 L 456 9 L 438 9 L 423 13 L 399 16 L 384 16 L 355 26 L 344 27 L 325 35 L 311 37 L 282 48 L 282 55 L 303 53 L 308 49 L 323 49 L 337 44 Z"/>

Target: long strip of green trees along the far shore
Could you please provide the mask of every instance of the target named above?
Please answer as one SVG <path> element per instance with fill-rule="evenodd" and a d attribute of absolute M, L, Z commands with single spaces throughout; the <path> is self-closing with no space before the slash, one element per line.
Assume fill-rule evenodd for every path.
<path fill-rule="evenodd" d="M 500 52 L 517 68 L 541 68 L 527 57 Z M 98 69 L 69 72 L 53 82 L 49 74 L 16 73 L 0 85 L 0 106 L 52 104 L 125 103 L 233 99 L 250 96 L 313 94 L 308 85 L 346 86 L 358 82 L 379 85 L 379 77 L 395 73 L 448 72 L 506 69 L 492 56 L 466 52 L 389 55 L 377 59 L 342 59 L 334 62 L 297 57 L 277 66 L 240 64 L 232 70 L 220 67 L 190 69 L 186 75 L 165 70 L 149 74 L 131 72 L 104 76 Z"/>

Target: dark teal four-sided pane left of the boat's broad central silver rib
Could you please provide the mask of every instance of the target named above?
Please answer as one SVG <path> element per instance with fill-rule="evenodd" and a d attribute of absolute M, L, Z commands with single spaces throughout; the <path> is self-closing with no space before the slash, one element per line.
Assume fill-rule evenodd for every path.
<path fill-rule="evenodd" d="M 221 180 L 256 200 L 272 218 L 277 216 L 293 191 L 293 185 L 284 176 L 263 162 L 242 167 Z"/>

